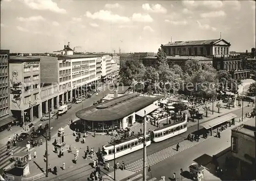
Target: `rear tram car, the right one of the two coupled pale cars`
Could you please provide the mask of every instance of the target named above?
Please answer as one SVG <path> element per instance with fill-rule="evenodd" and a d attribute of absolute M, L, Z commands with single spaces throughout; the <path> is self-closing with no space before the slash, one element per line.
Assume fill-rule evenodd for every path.
<path fill-rule="evenodd" d="M 187 131 L 187 120 L 177 121 L 167 124 L 163 127 L 156 128 L 152 131 L 151 137 L 153 142 L 160 142 Z"/>

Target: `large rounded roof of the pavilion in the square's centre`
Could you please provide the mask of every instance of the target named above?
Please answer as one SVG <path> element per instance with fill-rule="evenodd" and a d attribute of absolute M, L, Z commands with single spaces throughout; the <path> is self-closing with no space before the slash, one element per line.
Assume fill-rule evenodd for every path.
<path fill-rule="evenodd" d="M 126 94 L 80 110 L 76 112 L 76 116 L 88 121 L 118 120 L 153 104 L 160 98 L 162 96 L 146 97 L 136 93 Z"/>

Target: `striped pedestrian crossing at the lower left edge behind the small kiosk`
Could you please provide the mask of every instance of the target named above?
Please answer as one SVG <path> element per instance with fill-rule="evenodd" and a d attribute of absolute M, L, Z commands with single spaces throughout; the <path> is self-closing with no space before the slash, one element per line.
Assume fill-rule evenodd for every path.
<path fill-rule="evenodd" d="M 11 146 L 10 147 L 10 150 L 7 151 L 7 145 L 1 147 L 1 151 L 0 151 L 0 169 L 8 169 L 10 168 L 11 166 L 14 165 L 14 162 L 11 162 L 11 153 L 18 153 L 18 152 L 21 152 L 21 151 L 25 151 L 27 148 L 26 147 L 13 147 Z M 32 149 L 30 149 L 31 151 Z"/>

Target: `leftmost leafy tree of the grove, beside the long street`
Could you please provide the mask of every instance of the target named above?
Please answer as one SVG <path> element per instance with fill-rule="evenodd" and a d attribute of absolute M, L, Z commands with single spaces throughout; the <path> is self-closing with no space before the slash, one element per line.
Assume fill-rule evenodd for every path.
<path fill-rule="evenodd" d="M 135 81 L 142 81 L 144 77 L 145 67 L 139 61 L 126 61 L 120 66 L 120 82 L 125 86 L 130 86 Z"/>

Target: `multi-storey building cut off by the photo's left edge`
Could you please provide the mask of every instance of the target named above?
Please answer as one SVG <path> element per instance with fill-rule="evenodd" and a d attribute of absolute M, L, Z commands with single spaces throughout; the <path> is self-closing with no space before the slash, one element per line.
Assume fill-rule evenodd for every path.
<path fill-rule="evenodd" d="M 9 55 L 10 50 L 0 50 L 0 127 L 15 120 L 10 112 L 10 92 L 9 92 Z"/>

